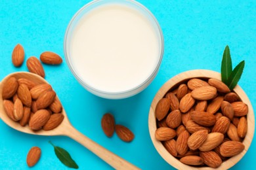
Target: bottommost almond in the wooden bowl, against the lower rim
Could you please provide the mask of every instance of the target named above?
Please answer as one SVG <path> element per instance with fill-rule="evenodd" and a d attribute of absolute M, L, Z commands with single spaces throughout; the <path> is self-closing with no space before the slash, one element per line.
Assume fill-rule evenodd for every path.
<path fill-rule="evenodd" d="M 203 163 L 213 168 L 219 167 L 223 162 L 219 155 L 214 151 L 200 152 L 200 157 L 203 159 Z"/>

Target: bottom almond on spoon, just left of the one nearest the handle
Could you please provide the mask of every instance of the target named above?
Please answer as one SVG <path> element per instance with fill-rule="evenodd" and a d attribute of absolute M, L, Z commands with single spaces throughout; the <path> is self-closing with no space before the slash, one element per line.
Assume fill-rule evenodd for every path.
<path fill-rule="evenodd" d="M 30 124 L 30 129 L 32 130 L 39 130 L 41 127 L 43 127 L 47 121 L 49 120 L 51 114 L 45 110 L 38 110 L 33 114 L 29 124 Z"/>

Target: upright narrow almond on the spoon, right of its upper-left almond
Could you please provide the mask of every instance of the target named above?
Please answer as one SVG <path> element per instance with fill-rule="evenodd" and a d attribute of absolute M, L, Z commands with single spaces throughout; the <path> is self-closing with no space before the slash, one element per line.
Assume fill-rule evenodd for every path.
<path fill-rule="evenodd" d="M 26 107 L 31 107 L 32 98 L 30 95 L 30 90 L 28 90 L 28 86 L 26 86 L 26 84 L 20 84 L 20 86 L 18 86 L 17 94 L 23 105 L 26 105 Z"/>

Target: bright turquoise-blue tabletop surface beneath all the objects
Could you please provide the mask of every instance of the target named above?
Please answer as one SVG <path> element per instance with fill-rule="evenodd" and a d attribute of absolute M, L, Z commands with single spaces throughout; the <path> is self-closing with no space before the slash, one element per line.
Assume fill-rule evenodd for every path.
<path fill-rule="evenodd" d="M 0 80 L 14 71 L 27 71 L 26 64 L 11 63 L 12 49 L 24 46 L 26 59 L 46 50 L 64 58 L 63 41 L 70 19 L 89 1 L 3 1 L 0 0 Z M 46 79 L 58 93 L 72 124 L 102 146 L 142 169 L 173 169 L 156 152 L 148 132 L 148 110 L 158 89 L 172 76 L 190 69 L 220 71 L 226 44 L 233 64 L 245 59 L 239 84 L 256 106 L 256 1 L 148 1 L 140 0 L 158 18 L 165 38 L 160 71 L 142 93 L 121 100 L 96 97 L 75 80 L 66 61 L 55 67 L 43 65 Z M 116 122 L 135 133 L 132 143 L 115 134 L 108 139 L 100 118 L 112 112 Z M 40 137 L 20 133 L 0 120 L 0 169 L 28 169 L 26 154 L 32 146 L 42 149 L 41 160 L 33 169 L 66 169 L 57 160 L 51 140 L 66 148 L 80 169 L 112 169 L 68 137 Z M 256 141 L 232 169 L 253 169 Z"/>

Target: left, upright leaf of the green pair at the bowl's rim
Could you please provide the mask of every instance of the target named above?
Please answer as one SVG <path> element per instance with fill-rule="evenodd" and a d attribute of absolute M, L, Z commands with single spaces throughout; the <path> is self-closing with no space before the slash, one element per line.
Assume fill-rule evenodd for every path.
<path fill-rule="evenodd" d="M 221 62 L 221 80 L 228 86 L 228 77 L 232 73 L 232 60 L 229 47 L 226 46 L 223 52 L 223 61 Z"/>

